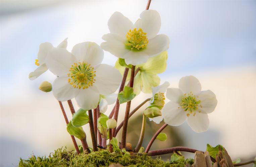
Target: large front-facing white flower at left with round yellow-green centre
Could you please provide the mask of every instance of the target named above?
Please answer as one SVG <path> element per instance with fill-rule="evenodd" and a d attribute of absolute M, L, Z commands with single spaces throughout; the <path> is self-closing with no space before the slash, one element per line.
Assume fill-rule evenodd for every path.
<path fill-rule="evenodd" d="M 114 67 L 100 64 L 103 50 L 94 42 L 76 44 L 72 52 L 63 48 L 49 51 L 46 64 L 57 77 L 53 82 L 53 95 L 59 101 L 75 98 L 84 110 L 97 107 L 100 94 L 116 91 L 121 74 Z"/>

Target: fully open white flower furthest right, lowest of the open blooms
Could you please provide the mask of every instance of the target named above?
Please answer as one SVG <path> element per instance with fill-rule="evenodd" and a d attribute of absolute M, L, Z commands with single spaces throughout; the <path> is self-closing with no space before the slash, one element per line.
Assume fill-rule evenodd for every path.
<path fill-rule="evenodd" d="M 207 114 L 214 111 L 217 99 L 212 91 L 201 91 L 201 84 L 196 77 L 182 77 L 179 89 L 168 88 L 166 97 L 170 100 L 162 110 L 166 124 L 179 126 L 188 118 L 193 131 L 200 133 L 208 129 Z"/>

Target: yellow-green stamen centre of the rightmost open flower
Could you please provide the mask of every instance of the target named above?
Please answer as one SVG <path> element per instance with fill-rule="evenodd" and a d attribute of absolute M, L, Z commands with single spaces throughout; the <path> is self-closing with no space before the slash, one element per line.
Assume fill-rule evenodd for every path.
<path fill-rule="evenodd" d="M 194 113 L 193 116 L 195 116 L 198 108 L 199 107 L 202 108 L 202 105 L 199 105 L 199 103 L 201 103 L 201 101 L 197 100 L 196 96 L 193 95 L 192 92 L 190 92 L 190 94 L 188 95 L 184 94 L 184 97 L 181 100 L 180 106 L 184 109 L 185 112 L 187 112 L 187 116 L 189 117 L 189 115 L 192 113 Z M 201 113 L 201 111 L 198 111 L 198 112 Z"/>

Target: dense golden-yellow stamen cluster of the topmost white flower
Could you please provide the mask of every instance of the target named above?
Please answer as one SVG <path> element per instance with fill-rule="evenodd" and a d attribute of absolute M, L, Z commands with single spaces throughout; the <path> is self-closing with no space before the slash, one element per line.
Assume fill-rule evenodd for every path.
<path fill-rule="evenodd" d="M 134 48 L 138 50 L 145 48 L 148 45 L 148 38 L 146 34 L 147 33 L 143 32 L 141 28 L 138 31 L 136 28 L 134 28 L 134 30 L 130 29 L 126 34 L 128 41 L 125 43 L 125 45 L 129 46 L 131 50 Z"/>

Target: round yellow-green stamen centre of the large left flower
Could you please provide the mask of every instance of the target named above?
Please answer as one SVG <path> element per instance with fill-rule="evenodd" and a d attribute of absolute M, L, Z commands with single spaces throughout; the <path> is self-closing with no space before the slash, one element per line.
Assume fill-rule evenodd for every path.
<path fill-rule="evenodd" d="M 91 64 L 84 62 L 74 63 L 69 69 L 70 73 L 67 74 L 70 77 L 68 78 L 68 83 L 72 85 L 73 88 L 78 89 L 86 89 L 93 86 L 95 81 L 94 77 L 96 76 L 96 71 L 93 69 Z"/>

